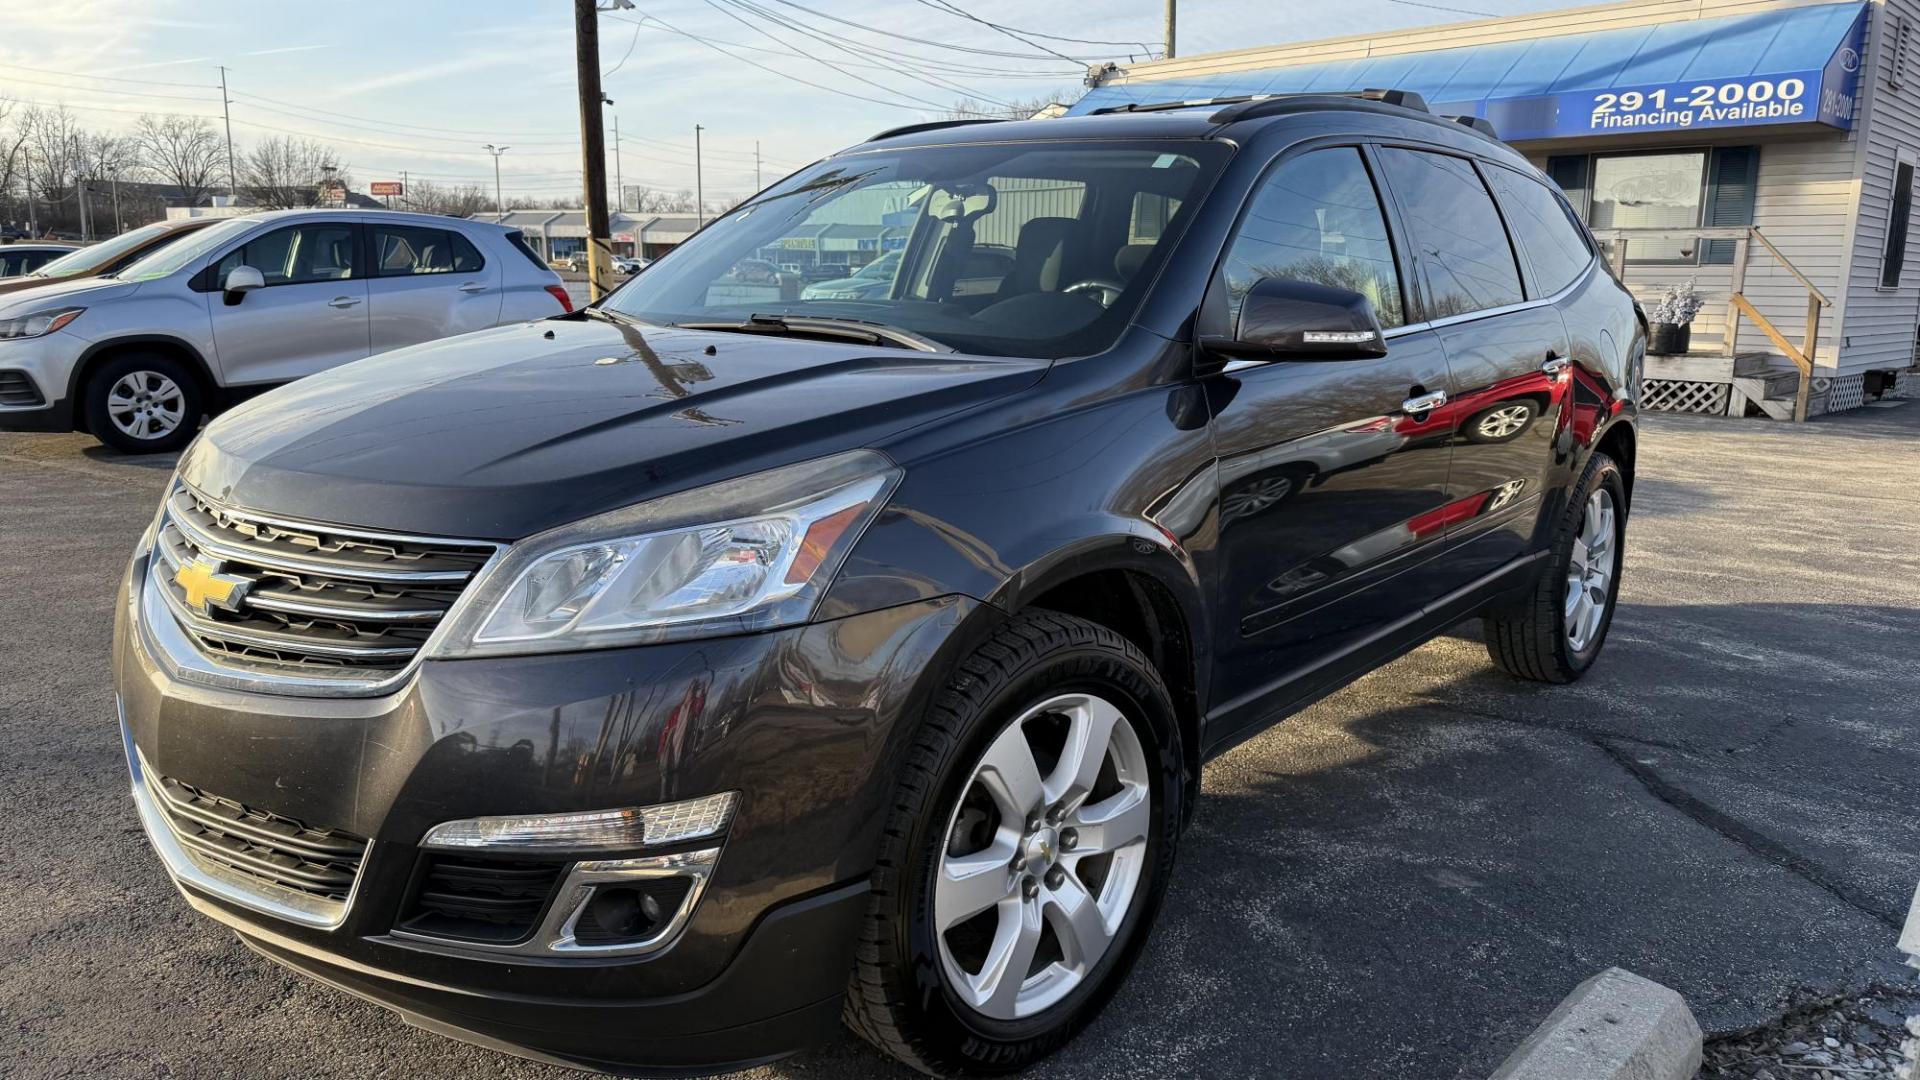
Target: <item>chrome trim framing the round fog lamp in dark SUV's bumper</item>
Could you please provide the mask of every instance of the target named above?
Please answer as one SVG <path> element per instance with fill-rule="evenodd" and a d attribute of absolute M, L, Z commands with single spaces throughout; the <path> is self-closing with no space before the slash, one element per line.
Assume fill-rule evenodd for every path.
<path fill-rule="evenodd" d="M 486 853 L 484 847 L 465 851 L 472 855 Z M 707 882 L 712 880 L 712 872 L 718 863 L 718 846 L 703 847 L 699 851 L 647 855 L 639 859 L 588 859 L 574 863 L 561 880 L 553 903 L 549 903 L 545 915 L 541 915 L 540 926 L 536 926 L 534 934 L 524 942 L 461 942 L 457 938 L 420 934 L 417 930 L 401 930 L 397 926 L 390 930 L 388 936 L 434 953 L 509 963 L 526 957 L 653 955 L 666 951 L 680 940 L 680 934 L 693 919 L 693 909 L 699 907 L 701 897 L 707 896 Z M 582 945 L 574 938 L 574 926 L 586 913 L 588 901 L 593 899 L 595 888 L 659 878 L 691 878 L 693 884 L 687 888 L 687 896 L 680 901 L 680 907 L 674 909 L 672 919 L 668 919 L 657 934 L 641 942 L 622 942 L 618 945 Z"/>

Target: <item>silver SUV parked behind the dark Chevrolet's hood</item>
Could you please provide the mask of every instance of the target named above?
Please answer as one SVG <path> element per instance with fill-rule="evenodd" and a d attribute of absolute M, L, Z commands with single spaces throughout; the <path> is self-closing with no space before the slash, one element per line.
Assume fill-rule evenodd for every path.
<path fill-rule="evenodd" d="M 0 300 L 0 430 L 179 450 L 200 417 L 365 356 L 572 309 L 520 233 L 426 213 L 234 217 Z"/>

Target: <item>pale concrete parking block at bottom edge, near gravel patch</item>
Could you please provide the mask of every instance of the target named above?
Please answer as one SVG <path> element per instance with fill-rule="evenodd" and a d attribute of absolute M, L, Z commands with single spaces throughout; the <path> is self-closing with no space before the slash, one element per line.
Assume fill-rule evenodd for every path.
<path fill-rule="evenodd" d="M 1686 1001 L 1609 967 L 1576 986 L 1492 1080 L 1690 1080 L 1699 1059 Z"/>

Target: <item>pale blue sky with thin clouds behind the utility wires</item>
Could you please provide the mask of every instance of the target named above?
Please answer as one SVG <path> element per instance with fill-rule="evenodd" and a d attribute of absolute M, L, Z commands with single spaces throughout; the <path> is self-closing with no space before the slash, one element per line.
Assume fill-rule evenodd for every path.
<path fill-rule="evenodd" d="M 1179 54 L 1557 6 L 1183 0 Z M 755 144 L 772 183 L 962 96 L 1073 100 L 1085 61 L 1158 54 L 1164 12 L 1164 0 L 634 0 L 601 15 L 609 154 L 618 119 L 628 186 L 693 188 L 703 125 L 707 196 L 745 196 Z M 225 65 L 236 144 L 276 133 L 332 144 L 357 190 L 401 171 L 492 188 L 492 142 L 509 148 L 509 202 L 580 192 L 566 0 L 0 0 L 0 98 L 65 104 L 88 127 L 131 129 L 142 111 L 219 125 Z"/>

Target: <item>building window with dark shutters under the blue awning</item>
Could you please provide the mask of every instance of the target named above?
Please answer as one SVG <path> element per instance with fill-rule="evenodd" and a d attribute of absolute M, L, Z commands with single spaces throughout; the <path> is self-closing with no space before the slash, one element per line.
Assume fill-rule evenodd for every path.
<path fill-rule="evenodd" d="M 1594 229 L 1692 229 L 1753 225 L 1759 148 L 1571 154 L 1546 173 Z M 1728 265 L 1734 240 L 1634 240 L 1628 263 Z"/>

